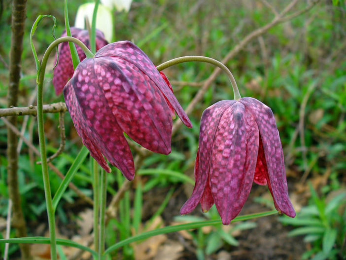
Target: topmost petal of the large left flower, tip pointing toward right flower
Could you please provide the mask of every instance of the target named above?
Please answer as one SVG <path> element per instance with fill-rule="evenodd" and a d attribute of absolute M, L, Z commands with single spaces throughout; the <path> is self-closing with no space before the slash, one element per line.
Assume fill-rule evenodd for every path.
<path fill-rule="evenodd" d="M 168 87 L 162 76 L 160 76 L 154 64 L 141 49 L 139 49 L 131 41 L 118 41 L 104 46 L 95 54 L 95 57 L 109 56 L 123 58 L 124 60 L 134 64 L 143 73 L 147 74 L 170 102 L 181 121 L 187 127 L 192 127 L 190 119 L 187 117 L 185 111 L 181 108 L 179 102 L 173 95 L 173 92 Z"/>

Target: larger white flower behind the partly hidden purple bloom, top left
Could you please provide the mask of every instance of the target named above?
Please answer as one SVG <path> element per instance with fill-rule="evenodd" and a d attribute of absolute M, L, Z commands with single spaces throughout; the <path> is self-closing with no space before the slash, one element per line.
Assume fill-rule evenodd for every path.
<path fill-rule="evenodd" d="M 80 5 L 74 26 L 80 29 L 85 29 L 85 17 L 88 17 L 91 25 L 94 7 L 95 3 L 84 3 Z M 99 4 L 97 9 L 96 28 L 104 33 L 104 37 L 108 42 L 112 42 L 114 32 L 113 16 L 111 10 L 103 4 Z"/>

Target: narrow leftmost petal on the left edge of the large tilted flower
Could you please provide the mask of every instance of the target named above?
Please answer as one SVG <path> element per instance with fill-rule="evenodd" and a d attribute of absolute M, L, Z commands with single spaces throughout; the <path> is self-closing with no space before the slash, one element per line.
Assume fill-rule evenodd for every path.
<path fill-rule="evenodd" d="M 97 145 L 95 145 L 95 143 L 93 142 L 93 130 L 90 129 L 82 112 L 80 111 L 71 81 L 67 83 L 64 89 L 64 96 L 66 106 L 69 109 L 69 114 L 72 118 L 74 127 L 77 131 L 77 134 L 81 137 L 83 144 L 90 151 L 91 156 L 93 156 L 95 160 L 101 165 L 101 167 L 104 168 L 104 170 L 106 170 L 107 172 L 110 172 L 110 168 L 107 162 L 104 160 L 104 156 L 97 148 Z"/>

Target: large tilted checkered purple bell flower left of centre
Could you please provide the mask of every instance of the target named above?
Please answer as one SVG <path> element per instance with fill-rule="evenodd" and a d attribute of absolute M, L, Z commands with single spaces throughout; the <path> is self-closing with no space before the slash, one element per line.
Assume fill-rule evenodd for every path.
<path fill-rule="evenodd" d="M 83 144 L 110 172 L 103 155 L 132 180 L 130 138 L 146 149 L 171 152 L 172 113 L 192 127 L 165 79 L 135 44 L 110 43 L 83 60 L 64 88 L 66 105 Z"/>

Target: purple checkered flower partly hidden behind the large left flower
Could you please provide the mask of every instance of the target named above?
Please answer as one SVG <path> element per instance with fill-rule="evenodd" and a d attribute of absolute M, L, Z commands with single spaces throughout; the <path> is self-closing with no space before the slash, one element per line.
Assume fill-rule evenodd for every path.
<path fill-rule="evenodd" d="M 75 27 L 71 27 L 70 30 L 72 37 L 79 39 L 90 49 L 89 33 L 87 30 L 82 30 Z M 66 32 L 64 32 L 61 37 L 64 36 L 67 36 Z M 101 49 L 106 44 L 108 44 L 108 42 L 104 38 L 104 34 L 101 31 L 96 30 L 96 50 Z M 81 47 L 76 45 L 76 49 L 79 56 L 79 60 L 84 60 L 86 56 Z M 59 44 L 58 53 L 58 64 L 53 71 L 53 85 L 55 88 L 55 93 L 57 95 L 60 95 L 64 89 L 64 86 L 72 77 L 74 71 L 71 59 L 71 52 L 69 50 L 69 42 L 63 42 Z"/>

